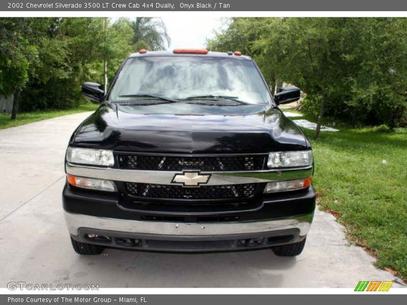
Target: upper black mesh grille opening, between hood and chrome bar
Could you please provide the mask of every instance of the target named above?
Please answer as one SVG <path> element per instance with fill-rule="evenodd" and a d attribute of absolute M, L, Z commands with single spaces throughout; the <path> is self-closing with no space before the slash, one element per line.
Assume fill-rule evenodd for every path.
<path fill-rule="evenodd" d="M 125 169 L 181 171 L 249 171 L 261 170 L 265 156 L 178 157 L 119 155 L 119 166 Z"/>

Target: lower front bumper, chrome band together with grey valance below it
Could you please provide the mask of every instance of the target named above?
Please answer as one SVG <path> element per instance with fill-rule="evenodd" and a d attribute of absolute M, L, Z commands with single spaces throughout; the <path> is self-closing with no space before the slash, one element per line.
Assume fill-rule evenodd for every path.
<path fill-rule="evenodd" d="M 73 239 L 111 248 L 216 252 L 270 248 L 303 240 L 313 212 L 277 220 L 175 223 L 112 219 L 65 212 Z"/>

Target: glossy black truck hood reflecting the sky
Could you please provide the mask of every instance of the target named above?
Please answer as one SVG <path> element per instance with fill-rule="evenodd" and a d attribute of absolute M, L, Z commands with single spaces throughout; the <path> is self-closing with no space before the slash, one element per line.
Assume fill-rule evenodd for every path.
<path fill-rule="evenodd" d="M 76 147 L 149 153 L 267 153 L 310 147 L 278 108 L 195 103 L 101 105 L 71 137 Z"/>

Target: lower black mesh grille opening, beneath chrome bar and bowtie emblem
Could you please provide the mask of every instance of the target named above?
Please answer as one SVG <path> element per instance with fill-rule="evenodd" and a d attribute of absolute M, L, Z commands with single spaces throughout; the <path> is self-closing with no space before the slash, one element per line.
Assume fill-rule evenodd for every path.
<path fill-rule="evenodd" d="M 255 184 L 185 188 L 182 186 L 127 182 L 126 190 L 130 195 L 144 198 L 233 199 L 245 198 L 253 195 Z"/>

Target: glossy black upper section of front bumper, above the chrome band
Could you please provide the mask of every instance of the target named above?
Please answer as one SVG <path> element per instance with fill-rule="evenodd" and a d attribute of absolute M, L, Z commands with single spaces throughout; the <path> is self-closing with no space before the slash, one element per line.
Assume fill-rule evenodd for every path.
<path fill-rule="evenodd" d="M 135 221 L 159 221 L 177 223 L 201 223 L 209 221 L 239 222 L 263 221 L 291 218 L 310 214 L 315 209 L 315 192 L 306 190 L 260 194 L 260 198 L 242 202 L 138 202 L 117 192 L 97 192 L 72 188 L 65 185 L 64 210 L 72 214 L 97 216 L 100 218 Z"/>

